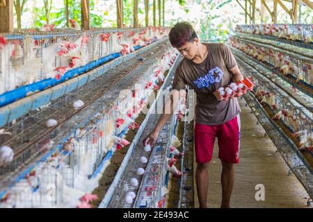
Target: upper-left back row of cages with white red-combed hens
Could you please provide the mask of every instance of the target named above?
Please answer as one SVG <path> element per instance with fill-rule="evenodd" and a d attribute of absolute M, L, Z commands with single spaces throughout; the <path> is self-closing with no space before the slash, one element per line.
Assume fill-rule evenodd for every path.
<path fill-rule="evenodd" d="M 0 95 L 47 79 L 56 85 L 67 72 L 77 74 L 78 67 L 114 53 L 131 53 L 167 34 L 168 28 L 160 27 L 2 33 Z"/>

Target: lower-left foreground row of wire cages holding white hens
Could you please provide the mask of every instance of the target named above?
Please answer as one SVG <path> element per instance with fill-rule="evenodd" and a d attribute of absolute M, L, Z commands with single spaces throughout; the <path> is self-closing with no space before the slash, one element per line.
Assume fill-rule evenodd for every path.
<path fill-rule="evenodd" d="M 162 60 L 176 56 L 170 49 Z M 156 74 L 172 65 L 161 67 L 161 64 L 156 61 L 154 68 L 143 74 L 136 89 L 122 94 L 92 125 L 74 130 L 60 142 L 45 140 L 38 153 L 13 172 L 9 165 L 15 164 L 15 160 L 1 165 L 0 207 L 91 207 L 90 201 L 97 196 L 90 193 L 98 186 L 111 155 L 131 144 L 125 134 L 139 127 L 134 120 L 157 83 L 162 83 Z"/>

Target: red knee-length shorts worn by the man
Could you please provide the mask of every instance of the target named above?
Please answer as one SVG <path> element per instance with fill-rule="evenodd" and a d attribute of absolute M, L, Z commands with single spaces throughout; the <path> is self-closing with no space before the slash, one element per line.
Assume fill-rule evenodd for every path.
<path fill-rule="evenodd" d="M 218 158 L 224 162 L 239 163 L 239 114 L 227 123 L 218 126 L 195 123 L 196 162 L 204 163 L 212 160 L 215 137 L 218 138 Z"/>

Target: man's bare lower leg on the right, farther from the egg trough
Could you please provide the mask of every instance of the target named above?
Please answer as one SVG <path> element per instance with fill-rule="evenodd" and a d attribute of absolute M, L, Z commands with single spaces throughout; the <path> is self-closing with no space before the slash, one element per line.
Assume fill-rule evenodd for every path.
<path fill-rule="evenodd" d="M 232 188 L 234 187 L 234 164 L 222 161 L 222 166 L 222 175 L 220 176 L 220 182 L 222 184 L 222 203 L 220 207 L 229 208 Z"/>

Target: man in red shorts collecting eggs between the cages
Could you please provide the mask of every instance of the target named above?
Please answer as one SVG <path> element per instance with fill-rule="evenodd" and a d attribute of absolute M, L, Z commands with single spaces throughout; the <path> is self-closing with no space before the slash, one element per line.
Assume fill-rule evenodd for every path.
<path fill-rule="evenodd" d="M 230 207 L 230 196 L 234 185 L 234 164 L 239 163 L 240 119 L 239 103 L 234 99 L 223 100 L 218 96 L 219 87 L 243 80 L 232 52 L 225 44 L 204 44 L 198 40 L 191 24 L 175 24 L 169 33 L 170 43 L 184 60 L 175 72 L 172 89 L 185 89 L 189 85 L 197 94 L 195 106 L 195 157 L 200 207 L 207 207 L 208 167 L 212 158 L 215 137 L 223 166 L 221 175 L 222 202 L 220 207 Z M 173 96 L 179 92 L 173 90 Z M 171 93 L 172 93 L 171 92 Z M 169 99 L 170 114 L 163 113 L 157 126 L 143 143 L 154 144 L 159 131 L 170 119 L 177 106 L 177 99 Z"/>

